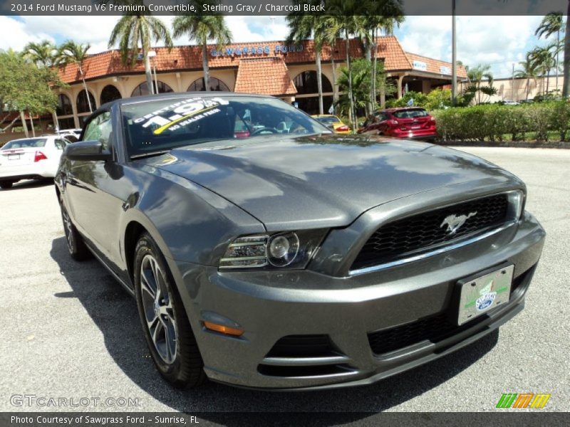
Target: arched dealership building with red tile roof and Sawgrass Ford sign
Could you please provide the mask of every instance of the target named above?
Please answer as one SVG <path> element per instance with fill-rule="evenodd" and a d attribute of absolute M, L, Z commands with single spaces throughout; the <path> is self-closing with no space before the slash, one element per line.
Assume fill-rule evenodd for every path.
<path fill-rule="evenodd" d="M 451 83 L 451 64 L 405 52 L 394 36 L 380 37 L 376 43 L 377 58 L 384 64 L 388 79 L 398 88 L 395 96 L 405 90 L 429 93 Z M 234 43 L 207 48 L 210 89 L 236 93 L 274 95 L 294 103 L 311 114 L 318 112 L 315 46 L 313 41 L 289 45 L 283 41 Z M 364 56 L 361 42 L 350 41 L 351 58 Z M 202 50 L 198 46 L 155 48 L 151 52 L 153 80 L 159 93 L 204 90 Z M 339 66 L 346 66 L 346 42 L 326 46 L 321 53 L 324 109 L 333 102 L 333 62 L 336 75 Z M 59 90 L 57 119 L 60 129 L 81 127 L 83 120 L 105 102 L 118 98 L 147 94 L 144 63 L 137 58 L 134 66 L 124 65 L 116 50 L 89 56 L 83 63 L 88 95 L 75 64 L 59 70 L 68 88 Z M 459 67 L 457 79 L 466 78 Z M 47 120 L 49 122 L 50 120 Z M 43 120 L 46 122 L 46 120 Z M 48 128 L 48 124 L 42 128 Z"/>

